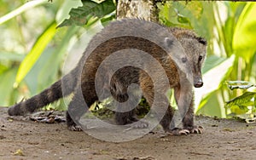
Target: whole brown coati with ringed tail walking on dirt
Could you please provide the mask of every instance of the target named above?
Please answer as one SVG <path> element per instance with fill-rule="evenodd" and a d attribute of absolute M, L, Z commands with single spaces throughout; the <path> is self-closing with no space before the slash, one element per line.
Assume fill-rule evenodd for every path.
<path fill-rule="evenodd" d="M 201 133 L 201 127 L 194 125 L 193 85 L 195 88 L 203 85 L 201 66 L 206 49 L 207 41 L 187 29 L 160 26 L 146 20 L 115 20 L 92 38 L 72 71 L 40 94 L 11 106 L 8 113 L 10 116 L 25 115 L 73 94 L 67 110 L 67 127 L 81 130 L 79 118 L 96 100 L 113 96 L 119 105 L 127 100 L 131 100 L 130 105 L 134 105 L 132 99 L 137 96 L 132 94 L 132 90 L 137 88 L 133 89 L 131 84 L 137 84 L 149 106 L 154 105 L 155 95 L 160 99 L 156 106 L 167 106 L 160 119 L 166 132 Z M 112 54 L 115 56 L 111 57 Z M 105 66 L 102 66 L 105 61 Z M 128 65 L 122 66 L 126 62 Z M 192 82 L 189 81 L 189 75 Z M 159 83 L 165 78 L 167 83 Z M 154 86 L 156 84 L 159 86 L 157 89 Z M 171 88 L 174 89 L 178 109 L 183 115 L 183 129 L 170 128 L 173 111 L 166 91 Z M 125 111 L 117 107 L 117 124 L 137 122 L 133 106 L 129 108 L 128 103 L 126 107 Z M 146 126 L 142 124 L 140 127 Z"/>

